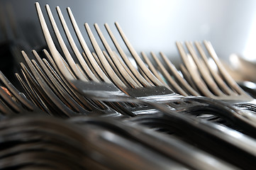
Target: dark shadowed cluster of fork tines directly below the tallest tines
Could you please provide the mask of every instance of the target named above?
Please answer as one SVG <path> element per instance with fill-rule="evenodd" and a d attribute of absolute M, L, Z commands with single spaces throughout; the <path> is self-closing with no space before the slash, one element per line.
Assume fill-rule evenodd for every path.
<path fill-rule="evenodd" d="M 50 57 L 44 50 L 45 55 Z M 38 63 L 30 60 L 25 52 L 22 52 L 26 64 L 21 63 L 21 70 L 24 79 L 18 74 L 23 88 L 26 90 L 30 99 L 40 107 L 44 106 L 48 112 L 61 117 L 74 115 L 100 115 L 119 117 L 120 113 L 101 102 L 93 102 L 77 94 L 65 84 L 63 79 L 56 74 L 56 71 L 50 66 L 47 60 L 41 60 L 38 53 L 33 50 Z M 43 62 L 44 61 L 44 62 Z"/>

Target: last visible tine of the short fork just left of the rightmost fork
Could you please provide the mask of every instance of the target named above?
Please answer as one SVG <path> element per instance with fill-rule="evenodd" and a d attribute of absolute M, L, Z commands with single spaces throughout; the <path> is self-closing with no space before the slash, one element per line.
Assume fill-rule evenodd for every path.
<path fill-rule="evenodd" d="M 174 75 L 174 77 L 179 81 L 180 84 L 182 84 L 182 86 L 184 86 L 184 88 L 187 89 L 187 91 L 189 92 L 189 94 L 193 95 L 193 96 L 199 96 L 199 93 L 197 93 L 188 83 L 187 81 L 185 81 L 185 79 L 183 77 L 181 77 L 181 75 L 178 73 L 178 70 L 176 69 L 176 67 L 174 66 L 174 64 L 172 64 L 172 62 L 170 62 L 167 57 L 164 55 L 164 53 L 160 52 L 160 55 L 162 56 L 163 60 L 165 61 L 165 63 L 167 64 L 167 66 L 169 67 L 169 69 L 171 70 L 172 74 Z"/>

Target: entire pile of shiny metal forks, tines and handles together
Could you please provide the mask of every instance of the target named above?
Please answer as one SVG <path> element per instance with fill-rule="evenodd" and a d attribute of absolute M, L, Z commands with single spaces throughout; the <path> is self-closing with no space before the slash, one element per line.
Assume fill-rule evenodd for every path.
<path fill-rule="evenodd" d="M 140 57 L 118 23 L 123 42 L 85 23 L 87 42 L 70 8 L 35 7 L 48 47 L 21 51 L 23 91 L 0 72 L 1 169 L 255 168 L 255 98 L 210 42 L 177 42 L 176 67 Z"/>

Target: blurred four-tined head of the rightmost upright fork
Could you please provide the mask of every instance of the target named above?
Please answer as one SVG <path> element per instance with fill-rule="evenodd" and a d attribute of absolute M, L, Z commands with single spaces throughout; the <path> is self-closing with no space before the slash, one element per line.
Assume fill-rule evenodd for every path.
<path fill-rule="evenodd" d="M 199 51 L 201 58 L 196 54 L 196 50 L 191 42 L 186 42 L 186 45 L 193 60 L 189 61 L 181 42 L 177 42 L 177 47 L 187 68 L 189 77 L 191 77 L 201 95 L 226 101 L 249 111 L 256 111 L 255 98 L 252 98 L 243 91 L 235 80 L 230 77 L 230 74 L 228 74 L 218 59 L 211 42 L 204 41 L 204 45 L 211 59 L 216 64 L 218 71 L 213 69 L 209 64 L 208 57 L 201 43 L 195 42 L 196 49 Z"/>

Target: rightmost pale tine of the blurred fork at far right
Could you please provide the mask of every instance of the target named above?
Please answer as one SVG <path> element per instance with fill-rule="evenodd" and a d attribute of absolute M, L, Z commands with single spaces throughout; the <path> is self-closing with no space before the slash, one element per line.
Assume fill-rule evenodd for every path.
<path fill-rule="evenodd" d="M 211 45 L 211 42 L 204 41 L 204 45 L 206 46 L 206 49 L 210 53 L 210 55 L 211 55 L 212 59 L 214 60 L 214 62 L 216 63 L 216 65 L 218 67 L 218 70 L 221 72 L 221 74 L 223 75 L 224 79 L 226 79 L 228 85 L 230 87 L 232 87 L 232 89 L 234 89 L 238 94 L 245 94 L 245 91 L 243 91 L 243 89 L 241 89 L 240 86 L 238 86 L 238 84 L 235 82 L 235 80 L 230 76 L 230 74 L 228 74 L 226 69 L 223 67 L 223 64 L 218 59 L 218 56 L 217 56 L 215 50 L 213 49 L 213 46 Z"/>

